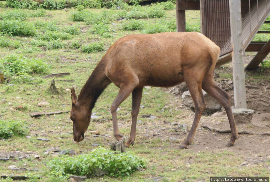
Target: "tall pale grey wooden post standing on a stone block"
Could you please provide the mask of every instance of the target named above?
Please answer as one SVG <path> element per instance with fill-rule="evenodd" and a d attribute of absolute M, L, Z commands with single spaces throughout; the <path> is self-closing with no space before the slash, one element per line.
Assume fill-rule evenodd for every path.
<path fill-rule="evenodd" d="M 229 0 L 230 25 L 232 38 L 233 90 L 235 108 L 247 108 L 246 87 L 243 61 L 243 38 L 241 1 Z"/>

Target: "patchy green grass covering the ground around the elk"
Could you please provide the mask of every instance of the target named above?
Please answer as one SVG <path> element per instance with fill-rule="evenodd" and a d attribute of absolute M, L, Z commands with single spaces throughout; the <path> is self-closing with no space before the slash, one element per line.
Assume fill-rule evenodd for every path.
<path fill-rule="evenodd" d="M 164 8 L 165 6 L 166 8 Z M 163 5 L 163 8 L 161 5 L 157 5 L 153 9 L 151 7 L 126 7 L 120 10 L 116 10 L 116 8 L 82 11 L 77 9 L 38 10 L 37 14 L 33 14 L 35 11 L 32 10 L 0 8 L 1 12 L 7 12 L 5 20 L 1 20 L 0 24 L 1 40 L 3 40 L 0 45 L 1 58 L 16 54 L 21 58 L 27 58 L 23 60 L 35 58 L 50 65 L 46 71 L 28 72 L 30 78 L 27 80 L 23 80 L 22 75 L 15 75 L 7 80 L 6 84 L 0 84 L 0 122 L 25 121 L 24 124 L 29 127 L 27 135 L 31 136 L 31 138 L 13 136 L 0 141 L 1 155 L 14 156 L 9 161 L 0 161 L 1 175 L 27 175 L 31 176 L 33 181 L 60 180 L 48 176 L 46 165 L 54 159 L 54 156 L 44 154 L 44 150 L 59 146 L 61 149 L 75 150 L 75 156 L 78 156 L 95 149 L 96 147 L 92 144 L 107 147 L 108 143 L 114 141 L 114 138 L 111 137 L 113 134 L 110 105 L 118 93 L 118 88 L 113 84 L 104 91 L 92 111 L 101 116 L 101 120 L 94 120 L 90 123 L 88 132 L 85 133 L 85 140 L 79 145 L 72 143 L 72 122 L 69 119 L 69 113 L 42 116 L 39 119 L 30 117 L 30 113 L 69 111 L 71 99 L 70 90 L 67 89 L 75 87 L 78 94 L 101 57 L 117 39 L 142 32 L 176 31 L 176 15 L 171 4 Z M 151 10 L 154 11 L 151 12 Z M 81 15 L 79 12 L 88 13 L 85 20 L 82 18 L 85 14 Z M 11 18 L 13 14 L 22 15 L 21 20 L 13 20 Z M 74 14 L 76 19 L 72 18 Z M 123 19 L 125 16 L 130 19 Z M 190 31 L 199 31 L 199 11 L 187 11 L 186 17 Z M 21 27 L 17 28 L 16 26 L 19 25 Z M 11 29 L 7 29 L 7 27 L 11 27 Z M 83 46 L 85 46 L 85 52 L 82 51 Z M 48 92 L 52 78 L 41 79 L 41 77 L 60 72 L 69 72 L 70 75 L 56 78 L 55 85 L 59 94 L 52 95 Z M 156 129 L 155 127 L 158 128 L 164 121 L 169 123 L 177 122 L 177 120 L 183 121 L 182 117 L 186 116 L 184 111 L 178 108 L 175 100 L 174 96 L 164 92 L 162 88 L 143 90 L 141 105 L 145 107 L 140 109 L 138 119 L 141 120 L 141 123 L 138 124 L 135 145 L 127 150 L 133 151 L 137 156 L 149 161 L 144 171 L 136 171 L 131 176 L 125 177 L 104 176 L 92 177 L 92 179 L 96 181 L 145 181 L 161 176 L 163 181 L 207 181 L 212 175 L 268 175 L 267 168 L 264 168 L 263 165 L 269 166 L 269 160 L 260 163 L 262 166 L 239 167 L 241 160 L 233 152 L 209 152 L 203 149 L 199 152 L 178 150 L 176 147 L 167 146 L 179 145 L 183 139 L 181 137 L 170 143 L 168 138 L 152 135 L 147 137 L 145 130 L 149 129 L 148 126 Z M 38 103 L 43 101 L 49 102 L 50 105 L 38 107 Z M 132 98 L 129 96 L 117 112 L 120 132 L 126 137 L 130 134 L 131 102 Z M 18 105 L 23 105 L 27 109 L 14 110 L 13 108 Z M 170 107 L 163 111 L 166 105 Z M 157 119 L 142 118 L 141 116 L 145 114 L 152 114 Z M 102 134 L 106 134 L 107 137 L 91 137 L 89 130 L 96 129 L 100 130 Z M 169 132 L 176 133 L 173 130 Z M 37 140 L 39 135 L 44 133 L 49 135 L 50 141 Z M 35 154 L 41 155 L 41 158 L 35 159 Z M 26 157 L 19 159 L 22 155 Z M 38 171 L 10 171 L 7 169 L 10 165 Z M 44 178 L 35 179 L 37 176 L 44 176 Z M 91 179 L 87 179 L 87 181 L 91 181 Z"/>

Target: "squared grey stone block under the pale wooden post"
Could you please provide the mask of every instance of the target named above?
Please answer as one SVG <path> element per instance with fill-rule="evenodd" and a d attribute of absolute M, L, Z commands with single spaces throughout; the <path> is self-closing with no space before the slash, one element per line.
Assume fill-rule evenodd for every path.
<path fill-rule="evenodd" d="M 254 110 L 245 108 L 232 107 L 232 114 L 236 124 L 239 123 L 251 123 Z"/>

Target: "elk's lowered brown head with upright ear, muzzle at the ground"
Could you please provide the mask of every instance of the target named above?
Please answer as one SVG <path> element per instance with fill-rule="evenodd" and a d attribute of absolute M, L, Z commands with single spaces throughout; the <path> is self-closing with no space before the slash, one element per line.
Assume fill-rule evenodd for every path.
<path fill-rule="evenodd" d="M 71 89 L 72 108 L 70 110 L 70 119 L 73 121 L 73 138 L 74 143 L 83 140 L 84 133 L 88 128 L 91 119 L 91 111 L 80 105 L 75 94 L 75 89 Z"/>

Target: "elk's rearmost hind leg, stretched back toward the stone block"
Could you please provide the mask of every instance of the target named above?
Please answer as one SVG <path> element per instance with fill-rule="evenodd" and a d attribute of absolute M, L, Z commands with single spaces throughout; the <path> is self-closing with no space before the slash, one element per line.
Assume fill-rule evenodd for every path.
<path fill-rule="evenodd" d="M 231 128 L 231 139 L 226 146 L 233 146 L 236 139 L 238 139 L 238 132 L 235 125 L 235 120 L 232 114 L 232 107 L 230 102 L 230 96 L 223 89 L 221 89 L 214 81 L 214 77 L 211 74 L 205 75 L 202 81 L 202 89 L 205 90 L 210 96 L 217 99 L 218 102 L 224 107 Z"/>

